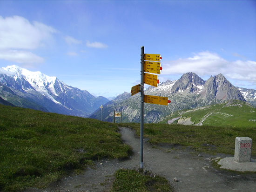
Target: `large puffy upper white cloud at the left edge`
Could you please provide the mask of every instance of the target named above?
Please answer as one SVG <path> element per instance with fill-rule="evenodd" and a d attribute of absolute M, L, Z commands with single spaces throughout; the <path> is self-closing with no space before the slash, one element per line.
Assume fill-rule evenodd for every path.
<path fill-rule="evenodd" d="M 36 49 L 56 32 L 51 26 L 37 21 L 31 24 L 20 16 L 0 16 L 0 49 Z"/>

